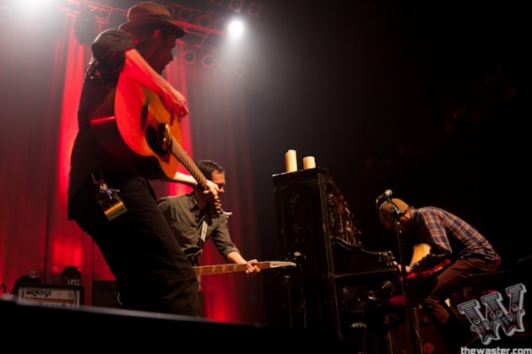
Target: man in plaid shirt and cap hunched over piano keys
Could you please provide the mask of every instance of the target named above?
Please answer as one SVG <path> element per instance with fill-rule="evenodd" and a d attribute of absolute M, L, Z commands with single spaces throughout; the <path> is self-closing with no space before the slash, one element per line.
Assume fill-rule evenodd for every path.
<path fill-rule="evenodd" d="M 426 274 L 440 264 L 448 264 L 423 281 L 422 286 L 419 284 L 419 301 L 443 342 L 453 352 L 458 350 L 459 338 L 471 331 L 460 325 L 445 301 L 469 286 L 470 274 L 497 271 L 500 256 L 481 232 L 442 208 L 413 208 L 394 198 L 380 205 L 379 217 L 388 229 L 414 232 L 421 242 L 430 245 L 430 252 L 419 262 L 405 265 L 407 273 Z M 401 269 L 401 264 L 398 267 Z"/>

